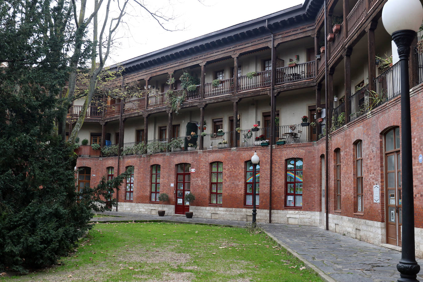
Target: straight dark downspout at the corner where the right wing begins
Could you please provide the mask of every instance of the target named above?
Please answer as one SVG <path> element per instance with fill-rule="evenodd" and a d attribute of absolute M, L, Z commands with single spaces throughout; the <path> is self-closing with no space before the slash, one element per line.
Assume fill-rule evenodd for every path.
<path fill-rule="evenodd" d="M 325 204 L 325 210 L 326 210 L 326 230 L 329 230 L 329 129 L 327 128 L 328 124 L 329 124 L 329 120 L 327 120 L 327 117 L 329 115 L 328 112 L 328 101 L 327 101 L 327 14 L 326 14 L 326 0 L 324 0 L 324 4 L 323 4 L 323 8 L 324 8 L 324 102 L 325 102 L 325 107 L 326 107 L 326 117 L 325 117 L 325 124 L 324 124 L 324 129 L 325 129 L 325 149 L 326 149 L 326 153 L 325 153 L 325 198 L 326 198 L 326 204 Z"/>

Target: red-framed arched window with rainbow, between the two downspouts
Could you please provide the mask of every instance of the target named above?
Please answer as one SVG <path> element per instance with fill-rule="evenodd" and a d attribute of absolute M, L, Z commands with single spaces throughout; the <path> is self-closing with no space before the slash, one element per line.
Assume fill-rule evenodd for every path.
<path fill-rule="evenodd" d="M 286 160 L 286 206 L 302 208 L 302 159 Z"/>

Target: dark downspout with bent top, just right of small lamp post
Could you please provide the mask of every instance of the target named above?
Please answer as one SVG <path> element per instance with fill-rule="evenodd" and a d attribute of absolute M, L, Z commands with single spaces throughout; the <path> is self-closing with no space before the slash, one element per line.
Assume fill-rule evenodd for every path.
<path fill-rule="evenodd" d="M 272 30 L 267 27 L 267 19 L 266 19 L 266 30 L 268 30 L 272 34 L 272 77 L 270 78 L 270 164 L 269 164 L 269 223 L 272 223 L 272 164 L 273 164 L 273 143 L 274 143 L 274 132 L 275 132 L 275 111 L 273 107 L 273 77 L 275 74 L 275 54 L 273 52 L 273 32 Z"/>

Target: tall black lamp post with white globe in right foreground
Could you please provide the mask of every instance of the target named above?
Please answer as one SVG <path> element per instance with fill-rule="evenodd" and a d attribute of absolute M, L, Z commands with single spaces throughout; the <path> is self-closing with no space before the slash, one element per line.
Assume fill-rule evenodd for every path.
<path fill-rule="evenodd" d="M 388 0 L 382 22 L 398 48 L 401 87 L 402 252 L 397 264 L 399 282 L 415 282 L 420 266 L 415 259 L 414 197 L 408 60 L 410 46 L 423 19 L 419 0 Z"/>

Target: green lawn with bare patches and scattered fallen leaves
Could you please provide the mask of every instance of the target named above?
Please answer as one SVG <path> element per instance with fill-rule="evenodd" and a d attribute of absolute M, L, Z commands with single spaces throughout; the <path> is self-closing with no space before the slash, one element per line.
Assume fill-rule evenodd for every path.
<path fill-rule="evenodd" d="M 0 281 L 322 281 L 265 233 L 174 223 L 96 224 L 60 266 Z"/>

